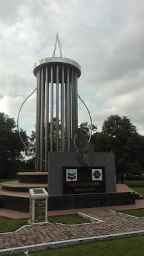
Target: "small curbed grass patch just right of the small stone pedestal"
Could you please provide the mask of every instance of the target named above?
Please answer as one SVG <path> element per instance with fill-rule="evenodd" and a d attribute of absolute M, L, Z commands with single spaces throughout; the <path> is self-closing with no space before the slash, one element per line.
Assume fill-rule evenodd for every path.
<path fill-rule="evenodd" d="M 63 224 L 68 224 L 68 225 L 82 224 L 82 223 L 90 222 L 90 221 L 85 220 L 84 218 L 80 217 L 77 214 L 49 217 L 48 221 L 49 222 L 58 222 L 58 223 L 63 223 Z"/>

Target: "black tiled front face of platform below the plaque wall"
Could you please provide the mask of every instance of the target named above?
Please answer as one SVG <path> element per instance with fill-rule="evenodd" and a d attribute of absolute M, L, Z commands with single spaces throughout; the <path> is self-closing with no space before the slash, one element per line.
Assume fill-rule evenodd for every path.
<path fill-rule="evenodd" d="M 135 194 L 131 192 L 57 195 L 49 196 L 48 211 L 131 204 L 135 204 Z"/>

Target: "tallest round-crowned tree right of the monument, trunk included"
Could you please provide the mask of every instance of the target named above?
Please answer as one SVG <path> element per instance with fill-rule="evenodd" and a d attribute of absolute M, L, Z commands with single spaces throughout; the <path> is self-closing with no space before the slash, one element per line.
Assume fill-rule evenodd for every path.
<path fill-rule="evenodd" d="M 104 121 L 102 132 L 111 138 L 111 151 L 115 152 L 116 175 L 121 175 L 122 183 L 124 173 L 131 173 L 133 170 L 140 171 L 138 159 L 138 145 L 140 137 L 136 126 L 131 123 L 127 116 L 111 115 Z"/>

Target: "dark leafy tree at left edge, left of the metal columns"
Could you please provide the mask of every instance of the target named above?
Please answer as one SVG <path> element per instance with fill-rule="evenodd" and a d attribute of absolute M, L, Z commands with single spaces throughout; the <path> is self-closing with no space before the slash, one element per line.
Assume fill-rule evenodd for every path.
<path fill-rule="evenodd" d="M 25 143 L 28 143 L 26 131 L 20 129 Z M 15 177 L 20 161 L 24 158 L 19 133 L 15 130 L 15 121 L 4 113 L 0 113 L 0 177 Z"/>

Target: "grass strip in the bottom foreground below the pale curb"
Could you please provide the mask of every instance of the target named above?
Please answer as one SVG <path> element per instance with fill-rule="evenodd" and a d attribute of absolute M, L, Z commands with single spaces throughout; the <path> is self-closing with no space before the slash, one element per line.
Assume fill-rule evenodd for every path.
<path fill-rule="evenodd" d="M 127 237 L 111 241 L 101 241 L 90 244 L 79 244 L 65 248 L 29 252 L 29 256 L 138 256 L 144 255 L 144 236 Z M 23 253 L 17 254 L 24 255 Z"/>

